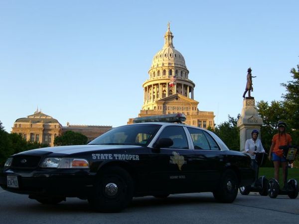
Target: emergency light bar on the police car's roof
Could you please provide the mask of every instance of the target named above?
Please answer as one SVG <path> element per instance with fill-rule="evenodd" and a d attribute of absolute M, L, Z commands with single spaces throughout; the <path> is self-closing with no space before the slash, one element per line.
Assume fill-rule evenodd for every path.
<path fill-rule="evenodd" d="M 186 116 L 183 113 L 172 113 L 166 115 L 155 115 L 155 116 L 145 116 L 136 117 L 133 123 L 143 123 L 143 122 L 178 122 L 182 123 L 186 120 Z"/>

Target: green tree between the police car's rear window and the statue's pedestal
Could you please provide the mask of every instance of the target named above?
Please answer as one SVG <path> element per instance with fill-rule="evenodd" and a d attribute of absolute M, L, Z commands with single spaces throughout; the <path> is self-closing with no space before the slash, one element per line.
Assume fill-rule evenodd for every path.
<path fill-rule="evenodd" d="M 240 151 L 240 132 L 237 127 L 237 121 L 238 118 L 228 115 L 228 121 L 217 125 L 214 132 L 222 139 L 229 149 Z"/>

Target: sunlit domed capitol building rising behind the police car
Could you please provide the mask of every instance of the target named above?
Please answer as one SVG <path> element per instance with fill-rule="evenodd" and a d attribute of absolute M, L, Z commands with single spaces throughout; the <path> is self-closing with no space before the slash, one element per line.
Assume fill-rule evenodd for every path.
<path fill-rule="evenodd" d="M 143 84 L 144 104 L 139 117 L 169 113 L 184 113 L 185 123 L 207 128 L 214 127 L 214 112 L 199 111 L 194 100 L 195 84 L 189 79 L 189 71 L 183 55 L 173 46 L 173 35 L 168 29 L 164 46 L 152 59 L 149 79 Z M 129 118 L 128 124 L 134 118 Z"/>

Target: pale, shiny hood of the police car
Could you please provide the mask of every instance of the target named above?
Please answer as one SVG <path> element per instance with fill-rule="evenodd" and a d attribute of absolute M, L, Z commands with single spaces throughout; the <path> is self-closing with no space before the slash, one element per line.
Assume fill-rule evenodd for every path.
<path fill-rule="evenodd" d="M 132 148 L 141 148 L 139 145 L 66 145 L 66 146 L 55 146 L 55 147 L 46 147 L 32 149 L 29 151 L 20 152 L 19 154 L 36 154 L 40 152 L 41 154 L 47 153 L 63 153 L 63 154 L 74 154 L 78 152 L 89 152 L 97 150 L 117 150 L 117 149 L 132 149 Z"/>

